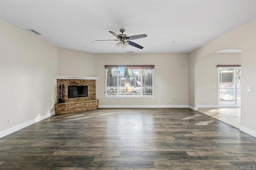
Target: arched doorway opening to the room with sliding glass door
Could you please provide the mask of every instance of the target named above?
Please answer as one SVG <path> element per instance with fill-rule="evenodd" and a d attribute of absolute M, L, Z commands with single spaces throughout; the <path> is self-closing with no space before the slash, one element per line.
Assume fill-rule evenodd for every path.
<path fill-rule="evenodd" d="M 210 53 L 195 65 L 198 111 L 236 128 L 241 113 L 240 65 L 241 51 L 231 49 Z"/>

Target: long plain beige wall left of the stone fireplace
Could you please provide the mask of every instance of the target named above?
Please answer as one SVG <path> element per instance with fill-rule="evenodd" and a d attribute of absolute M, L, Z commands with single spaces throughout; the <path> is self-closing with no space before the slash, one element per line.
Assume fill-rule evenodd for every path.
<path fill-rule="evenodd" d="M 2 20 L 0 25 L 3 132 L 54 112 L 58 48 Z"/>

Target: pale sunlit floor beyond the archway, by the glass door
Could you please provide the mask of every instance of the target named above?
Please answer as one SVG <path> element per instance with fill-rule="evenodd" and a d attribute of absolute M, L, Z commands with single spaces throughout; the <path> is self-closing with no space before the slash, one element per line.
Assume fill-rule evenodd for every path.
<path fill-rule="evenodd" d="M 198 111 L 232 127 L 240 128 L 241 108 L 198 108 Z"/>

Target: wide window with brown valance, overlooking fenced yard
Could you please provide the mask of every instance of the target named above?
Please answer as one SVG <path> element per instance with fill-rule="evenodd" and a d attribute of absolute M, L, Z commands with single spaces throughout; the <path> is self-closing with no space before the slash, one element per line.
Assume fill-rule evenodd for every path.
<path fill-rule="evenodd" d="M 154 65 L 105 65 L 106 97 L 152 97 Z"/>

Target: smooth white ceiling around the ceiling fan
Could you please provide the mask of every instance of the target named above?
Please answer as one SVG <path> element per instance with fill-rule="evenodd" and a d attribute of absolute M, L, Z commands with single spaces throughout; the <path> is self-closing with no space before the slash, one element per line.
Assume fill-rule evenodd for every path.
<path fill-rule="evenodd" d="M 116 41 L 94 40 L 115 39 L 108 31 L 125 28 L 148 37 L 132 40 L 144 49 L 124 52 L 188 53 L 256 19 L 256 0 L 2 0 L 0 14 L 58 47 L 122 53 Z"/>

